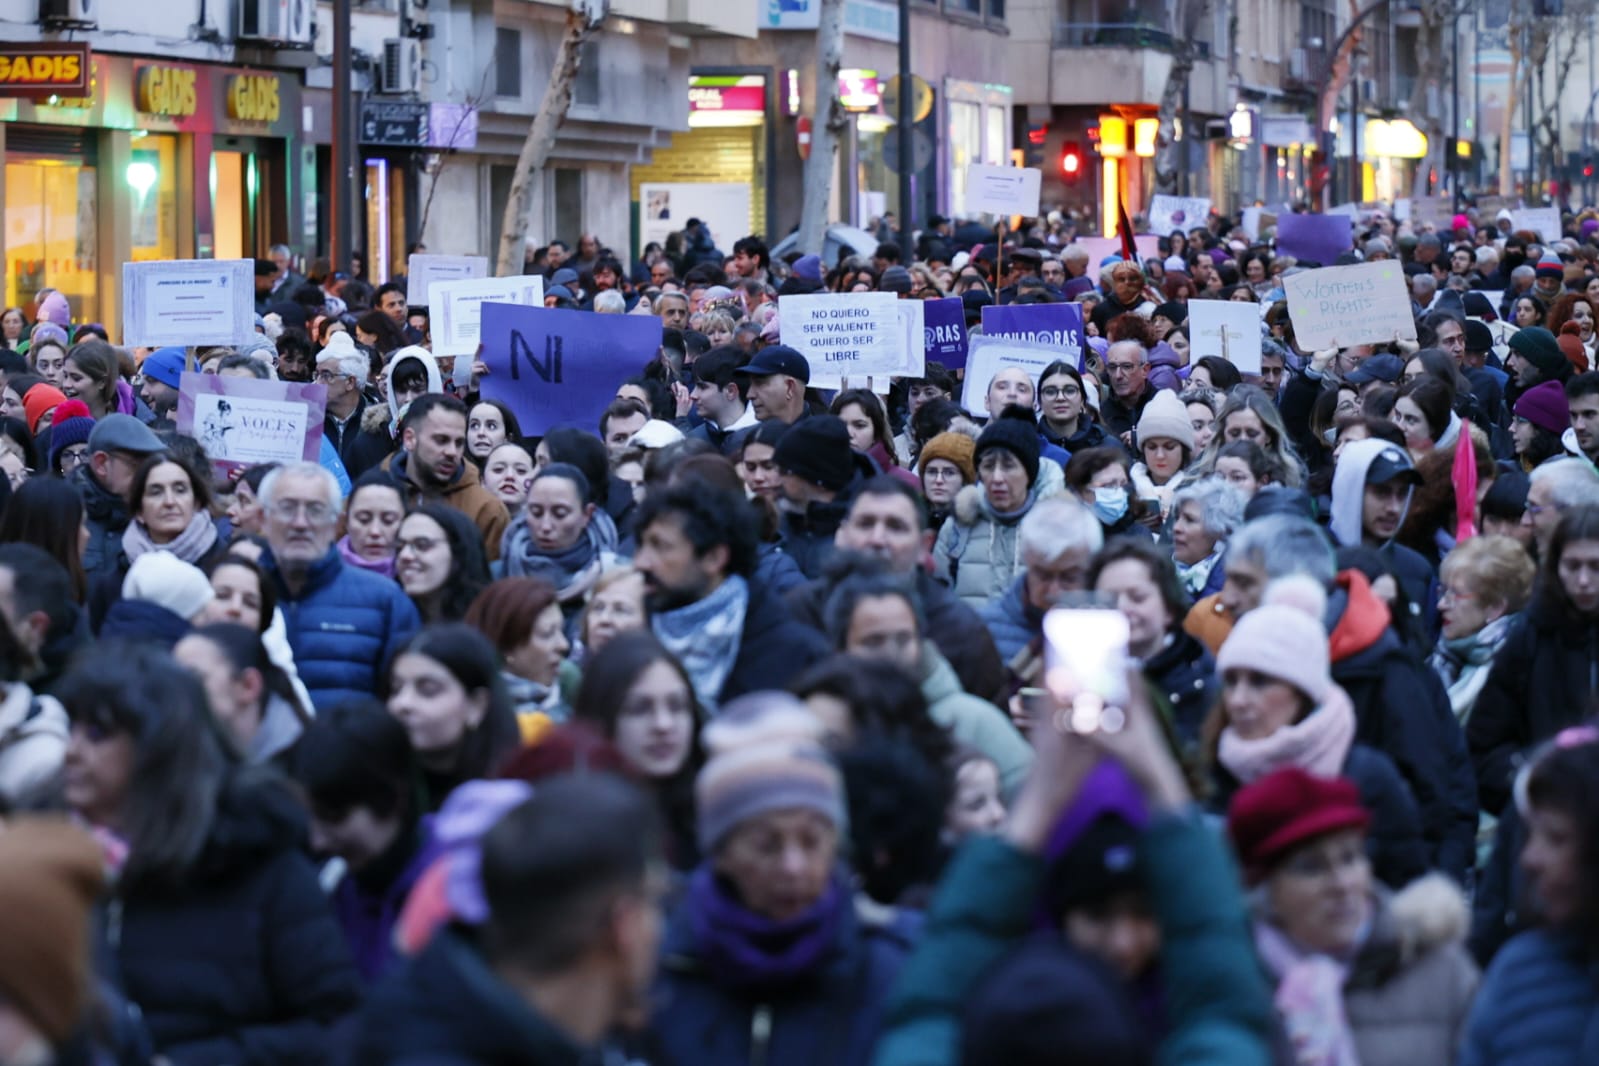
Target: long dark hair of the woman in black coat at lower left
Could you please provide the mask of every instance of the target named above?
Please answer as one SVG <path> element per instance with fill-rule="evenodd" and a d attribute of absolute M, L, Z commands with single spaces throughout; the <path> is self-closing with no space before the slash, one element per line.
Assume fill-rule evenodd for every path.
<path fill-rule="evenodd" d="M 166 652 L 110 641 L 74 665 L 56 698 L 74 724 L 133 743 L 118 826 L 128 842 L 123 882 L 182 879 L 211 836 L 238 762 L 205 689 Z"/>

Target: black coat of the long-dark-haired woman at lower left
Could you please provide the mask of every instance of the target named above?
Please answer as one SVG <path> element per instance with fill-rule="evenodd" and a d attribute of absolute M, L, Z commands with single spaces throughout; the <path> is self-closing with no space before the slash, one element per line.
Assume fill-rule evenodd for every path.
<path fill-rule="evenodd" d="M 235 770 L 181 882 L 110 903 L 107 973 L 173 1066 L 328 1061 L 361 991 L 304 831 L 281 782 Z"/>

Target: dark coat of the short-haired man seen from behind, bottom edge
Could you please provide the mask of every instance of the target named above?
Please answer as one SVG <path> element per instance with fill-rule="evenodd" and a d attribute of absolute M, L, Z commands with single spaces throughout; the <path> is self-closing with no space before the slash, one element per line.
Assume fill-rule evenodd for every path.
<path fill-rule="evenodd" d="M 584 1052 L 441 930 L 373 992 L 350 1066 L 577 1066 Z"/>

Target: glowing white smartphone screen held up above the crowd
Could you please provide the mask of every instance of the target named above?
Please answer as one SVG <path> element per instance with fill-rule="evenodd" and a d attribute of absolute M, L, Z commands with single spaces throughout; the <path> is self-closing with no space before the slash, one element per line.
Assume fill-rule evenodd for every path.
<path fill-rule="evenodd" d="M 1127 619 L 1119 611 L 1055 607 L 1044 615 L 1044 684 L 1073 732 L 1116 732 L 1127 706 Z"/>

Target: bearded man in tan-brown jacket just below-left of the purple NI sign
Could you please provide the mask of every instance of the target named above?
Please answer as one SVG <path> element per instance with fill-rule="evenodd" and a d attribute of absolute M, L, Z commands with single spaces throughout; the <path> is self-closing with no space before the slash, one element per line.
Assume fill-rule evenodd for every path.
<path fill-rule="evenodd" d="M 443 393 L 417 396 L 400 422 L 400 444 L 384 468 L 395 475 L 406 500 L 413 507 L 440 500 L 461 511 L 483 534 L 489 561 L 497 559 L 510 511 L 483 487 L 477 463 L 467 462 L 467 404 Z"/>

